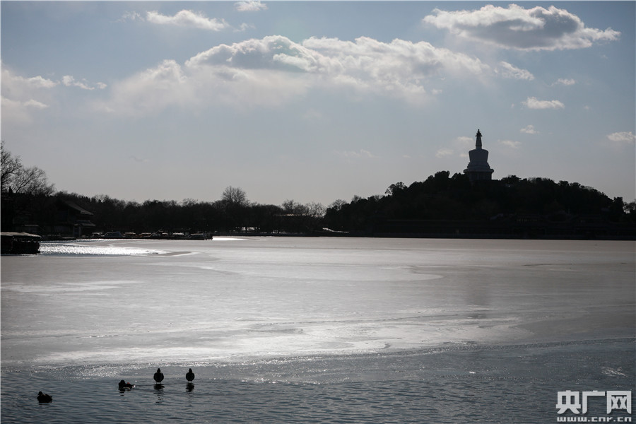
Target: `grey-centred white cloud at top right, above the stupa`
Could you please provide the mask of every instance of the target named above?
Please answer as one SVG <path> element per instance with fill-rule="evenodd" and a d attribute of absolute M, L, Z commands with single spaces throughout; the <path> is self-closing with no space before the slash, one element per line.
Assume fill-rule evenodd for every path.
<path fill-rule="evenodd" d="M 608 28 L 586 28 L 582 20 L 565 9 L 536 6 L 525 9 L 487 5 L 473 11 L 435 9 L 423 21 L 470 39 L 505 49 L 557 50 L 590 47 L 594 42 L 618 40 L 620 33 Z"/>

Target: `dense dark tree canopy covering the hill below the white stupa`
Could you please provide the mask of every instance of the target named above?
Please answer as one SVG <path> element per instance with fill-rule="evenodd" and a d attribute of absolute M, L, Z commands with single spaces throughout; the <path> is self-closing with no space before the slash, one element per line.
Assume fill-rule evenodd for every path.
<path fill-rule="evenodd" d="M 594 218 L 606 223 L 632 223 L 633 227 L 635 209 L 634 202 L 625 204 L 620 197 L 610 199 L 576 182 L 510 175 L 500 181 L 471 184 L 466 175 L 450 176 L 450 172 L 440 171 L 408 187 L 403 182 L 391 184 L 384 196 L 355 197 L 349 204 L 330 207 L 324 223 L 334 230 L 361 232 L 418 232 L 422 228 L 430 232 L 430 225 L 425 227 L 422 221 L 435 221 L 440 228 L 457 228 L 448 221 L 482 227 L 478 223 L 483 222 L 494 232 L 505 228 L 505 223 L 520 219 L 554 227 L 556 223 Z"/>

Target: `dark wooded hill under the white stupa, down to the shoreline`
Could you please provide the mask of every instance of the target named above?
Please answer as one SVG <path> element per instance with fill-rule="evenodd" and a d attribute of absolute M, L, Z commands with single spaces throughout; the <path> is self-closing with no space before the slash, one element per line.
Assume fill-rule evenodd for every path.
<path fill-rule="evenodd" d="M 510 175 L 471 183 L 440 171 L 408 187 L 391 184 L 384 196 L 332 206 L 324 224 L 372 235 L 633 238 L 636 202 L 576 182 Z"/>

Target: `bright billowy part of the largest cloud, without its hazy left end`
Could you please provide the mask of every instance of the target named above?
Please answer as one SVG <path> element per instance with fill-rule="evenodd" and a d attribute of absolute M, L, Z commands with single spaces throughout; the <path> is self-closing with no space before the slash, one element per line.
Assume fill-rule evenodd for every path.
<path fill-rule="evenodd" d="M 226 80 L 248 72 L 254 78 L 266 71 L 287 72 L 290 82 L 305 78 L 313 86 L 349 86 L 413 101 L 432 95 L 425 90 L 425 81 L 442 70 L 458 74 L 488 71 L 478 59 L 427 42 L 384 43 L 360 37 L 354 42 L 310 38 L 299 44 L 278 35 L 218 45 L 192 57 L 186 66 L 207 69 Z"/>

